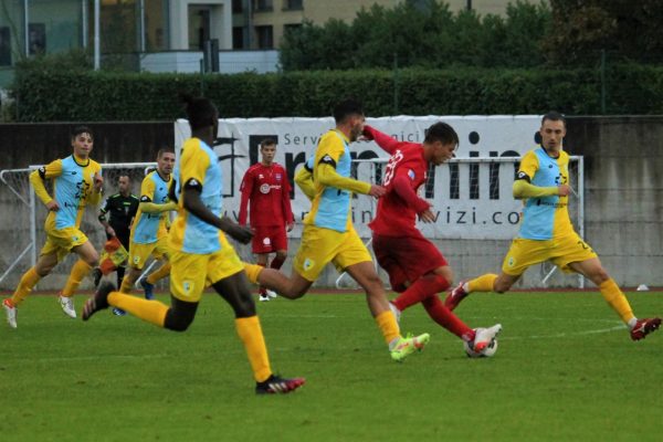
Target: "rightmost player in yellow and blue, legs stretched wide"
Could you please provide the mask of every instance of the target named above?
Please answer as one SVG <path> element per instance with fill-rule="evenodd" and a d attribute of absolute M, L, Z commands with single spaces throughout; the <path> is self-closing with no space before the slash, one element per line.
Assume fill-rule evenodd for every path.
<path fill-rule="evenodd" d="M 499 275 L 485 274 L 462 282 L 446 297 L 453 309 L 472 292 L 508 291 L 532 265 L 551 261 L 564 272 L 579 273 L 594 283 L 606 302 L 628 325 L 633 340 L 643 339 L 661 326 L 660 318 L 638 319 L 614 280 L 596 252 L 573 230 L 568 212 L 569 156 L 562 150 L 566 119 L 557 112 L 546 114 L 539 129 L 541 146 L 520 161 L 514 197 L 524 200 L 518 238 L 502 264 Z"/>

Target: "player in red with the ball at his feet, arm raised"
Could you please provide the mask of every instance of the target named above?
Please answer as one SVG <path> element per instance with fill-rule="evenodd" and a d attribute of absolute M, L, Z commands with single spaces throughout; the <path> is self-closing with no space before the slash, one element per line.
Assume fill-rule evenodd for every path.
<path fill-rule="evenodd" d="M 421 303 L 438 324 L 483 351 L 502 329 L 499 324 L 472 329 L 444 306 L 438 293 L 453 280 L 449 263 L 435 245 L 414 225 L 417 217 L 434 222 L 431 204 L 417 191 L 427 180 L 430 165 L 449 160 L 459 145 L 459 136 L 446 123 L 429 127 L 423 144 L 400 143 L 370 126 L 366 139 L 375 140 L 391 155 L 385 171 L 387 193 L 378 200 L 376 218 L 369 223 L 376 259 L 389 274 L 391 288 L 400 295 L 390 303 L 394 315 Z"/>

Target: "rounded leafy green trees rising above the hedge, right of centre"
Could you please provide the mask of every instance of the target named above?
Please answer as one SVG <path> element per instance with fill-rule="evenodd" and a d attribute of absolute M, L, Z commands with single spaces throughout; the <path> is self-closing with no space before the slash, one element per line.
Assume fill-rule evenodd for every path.
<path fill-rule="evenodd" d="M 350 25 L 330 20 L 308 22 L 288 32 L 281 44 L 285 71 L 450 65 L 528 67 L 541 64 L 541 42 L 550 11 L 517 0 L 506 18 L 457 14 L 440 1 L 398 2 L 387 9 L 361 9 Z"/>

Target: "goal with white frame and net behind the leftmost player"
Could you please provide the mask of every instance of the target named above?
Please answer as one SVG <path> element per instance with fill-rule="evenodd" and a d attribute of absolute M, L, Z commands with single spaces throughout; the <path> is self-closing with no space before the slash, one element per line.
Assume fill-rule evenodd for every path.
<path fill-rule="evenodd" d="M 36 257 L 45 242 L 44 221 L 46 208 L 35 197 L 30 186 L 29 176 L 41 166 L 30 166 L 24 169 L 6 169 L 0 171 L 0 207 L 11 208 L 11 215 L 4 215 L 12 223 L 0 225 L 0 240 L 3 246 L 0 252 L 0 288 L 15 288 L 21 275 L 36 262 Z M 128 175 L 131 179 L 131 192 L 138 196 L 140 182 L 145 175 L 156 168 L 156 162 L 103 164 L 104 199 L 117 192 L 117 181 L 120 176 Z M 51 180 L 46 180 L 46 189 L 52 194 Z M 102 201 L 102 204 L 104 201 Z M 86 208 L 81 221 L 81 230 L 90 238 L 97 250 L 106 241 L 104 229 L 97 217 L 101 207 Z M 61 288 L 69 276 L 71 266 L 76 261 L 73 254 L 57 265 L 38 286 L 40 290 Z M 62 264 L 62 263 L 61 263 Z M 87 283 L 81 286 L 86 288 Z"/>

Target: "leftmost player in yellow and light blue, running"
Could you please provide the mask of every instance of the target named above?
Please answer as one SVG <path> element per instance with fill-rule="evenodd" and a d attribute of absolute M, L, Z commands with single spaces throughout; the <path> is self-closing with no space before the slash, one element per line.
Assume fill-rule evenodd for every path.
<path fill-rule="evenodd" d="M 96 206 L 102 199 L 102 167 L 90 158 L 93 145 L 92 130 L 85 126 L 76 127 L 72 134 L 74 152 L 30 175 L 34 193 L 49 209 L 44 225 L 46 243 L 36 264 L 23 274 L 13 295 L 2 303 L 7 322 L 12 328 L 17 328 L 17 308 L 21 302 L 70 252 L 76 253 L 80 260 L 74 264 L 57 299 L 67 316 L 76 317 L 72 296 L 99 260 L 94 245 L 78 229 L 85 207 Z M 53 196 L 44 186 L 48 179 L 53 181 Z"/>

